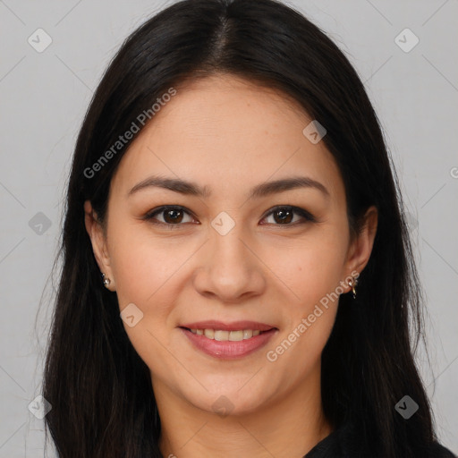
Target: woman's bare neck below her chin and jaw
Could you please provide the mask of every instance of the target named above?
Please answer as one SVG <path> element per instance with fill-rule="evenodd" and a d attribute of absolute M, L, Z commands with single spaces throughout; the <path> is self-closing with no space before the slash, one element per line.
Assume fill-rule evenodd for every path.
<path fill-rule="evenodd" d="M 225 417 L 153 386 L 165 458 L 301 458 L 332 431 L 322 411 L 319 374 L 275 403 Z"/>

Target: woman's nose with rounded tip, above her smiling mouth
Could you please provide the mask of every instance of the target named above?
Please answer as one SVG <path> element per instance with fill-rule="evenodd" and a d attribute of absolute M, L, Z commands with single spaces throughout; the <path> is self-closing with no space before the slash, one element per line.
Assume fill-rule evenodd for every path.
<path fill-rule="evenodd" d="M 194 276 L 196 290 L 224 303 L 262 294 L 267 284 L 266 267 L 253 245 L 237 225 L 225 235 L 211 233 Z"/>

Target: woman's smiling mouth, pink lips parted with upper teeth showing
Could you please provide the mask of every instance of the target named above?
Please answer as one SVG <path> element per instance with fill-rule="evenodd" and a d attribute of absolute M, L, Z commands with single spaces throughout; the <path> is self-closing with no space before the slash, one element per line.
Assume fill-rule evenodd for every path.
<path fill-rule="evenodd" d="M 180 327 L 191 344 L 218 359 L 235 359 L 256 352 L 276 334 L 276 327 L 254 322 L 199 321 Z"/>

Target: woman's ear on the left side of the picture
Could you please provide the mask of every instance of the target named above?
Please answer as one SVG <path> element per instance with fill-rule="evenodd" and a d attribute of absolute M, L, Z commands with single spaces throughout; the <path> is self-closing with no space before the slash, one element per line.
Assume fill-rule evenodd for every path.
<path fill-rule="evenodd" d="M 111 269 L 110 258 L 106 247 L 106 234 L 89 200 L 84 202 L 84 224 L 89 234 L 98 268 L 110 281 L 110 284 L 107 284 L 106 288 L 110 291 L 115 291 L 113 271 Z"/>

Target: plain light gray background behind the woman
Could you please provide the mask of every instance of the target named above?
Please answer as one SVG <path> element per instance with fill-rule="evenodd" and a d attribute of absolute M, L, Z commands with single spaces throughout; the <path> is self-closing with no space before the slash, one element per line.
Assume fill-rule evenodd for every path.
<path fill-rule="evenodd" d="M 428 300 L 432 364 L 429 369 L 420 348 L 421 374 L 439 438 L 456 453 L 457 1 L 291 4 L 349 56 L 386 132 Z M 39 394 L 53 293 L 48 277 L 83 114 L 123 38 L 164 5 L 153 0 L 0 0 L 0 457 L 42 455 L 43 420 L 28 406 Z M 41 53 L 28 43 L 30 36 L 38 41 L 38 28 L 52 38 Z M 405 28 L 420 39 L 408 53 L 394 41 Z M 403 34 L 400 39 L 404 47 L 413 43 Z M 39 212 L 46 217 L 36 216 Z"/>

